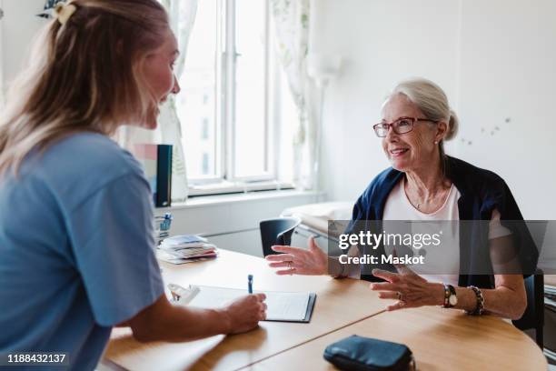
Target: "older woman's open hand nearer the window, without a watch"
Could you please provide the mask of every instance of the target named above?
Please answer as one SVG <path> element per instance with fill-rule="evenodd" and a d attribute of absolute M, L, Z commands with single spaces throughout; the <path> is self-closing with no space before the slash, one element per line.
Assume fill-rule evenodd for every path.
<path fill-rule="evenodd" d="M 309 249 L 292 246 L 273 246 L 278 255 L 266 256 L 273 268 L 285 268 L 276 271 L 277 275 L 326 275 L 328 273 L 328 256 L 309 238 Z"/>

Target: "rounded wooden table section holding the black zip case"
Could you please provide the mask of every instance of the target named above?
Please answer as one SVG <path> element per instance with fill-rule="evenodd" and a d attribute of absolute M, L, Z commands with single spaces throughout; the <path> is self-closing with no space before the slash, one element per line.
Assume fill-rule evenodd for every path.
<path fill-rule="evenodd" d="M 245 369 L 269 371 L 303 365 L 308 370 L 333 370 L 323 359 L 324 348 L 352 335 L 409 346 L 419 370 L 547 369 L 541 349 L 511 323 L 430 306 L 373 316 Z"/>

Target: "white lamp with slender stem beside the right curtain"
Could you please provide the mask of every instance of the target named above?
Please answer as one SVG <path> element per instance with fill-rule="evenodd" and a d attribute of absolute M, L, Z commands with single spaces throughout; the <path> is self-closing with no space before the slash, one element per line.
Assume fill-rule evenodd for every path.
<path fill-rule="evenodd" d="M 307 75 L 313 78 L 320 95 L 317 125 L 315 127 L 315 144 L 313 153 L 313 189 L 315 190 L 315 202 L 319 202 L 320 192 L 320 167 L 321 167 L 321 145 L 323 143 L 323 110 L 324 95 L 330 81 L 340 74 L 343 58 L 341 55 L 325 55 L 321 53 L 309 53 L 307 55 Z"/>

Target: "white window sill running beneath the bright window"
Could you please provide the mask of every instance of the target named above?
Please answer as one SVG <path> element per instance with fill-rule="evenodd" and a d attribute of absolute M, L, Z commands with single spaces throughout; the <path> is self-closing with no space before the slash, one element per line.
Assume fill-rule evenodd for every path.
<path fill-rule="evenodd" d="M 324 193 L 315 192 L 315 191 L 301 191 L 297 189 L 287 189 L 287 190 L 280 190 L 280 191 L 273 190 L 273 191 L 247 192 L 247 193 L 229 194 L 229 195 L 195 196 L 193 198 L 187 199 L 187 201 L 183 203 L 174 203 L 170 207 L 156 208 L 155 214 L 158 215 L 164 212 L 172 212 L 173 210 L 180 210 L 180 209 L 187 209 L 187 208 L 222 206 L 225 204 L 248 203 L 248 202 L 256 202 L 256 201 L 276 199 L 276 198 L 306 197 L 306 196 L 314 196 L 316 202 L 317 198 L 320 199 L 323 198 Z"/>

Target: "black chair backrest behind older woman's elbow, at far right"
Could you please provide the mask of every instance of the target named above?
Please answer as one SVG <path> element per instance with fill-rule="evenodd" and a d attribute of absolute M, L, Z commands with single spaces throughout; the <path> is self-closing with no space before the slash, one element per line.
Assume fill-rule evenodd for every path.
<path fill-rule="evenodd" d="M 525 291 L 527 293 L 527 308 L 520 319 L 511 321 L 520 330 L 535 329 L 537 345 L 543 347 L 544 326 L 544 276 L 541 269 L 534 275 L 525 278 Z"/>

